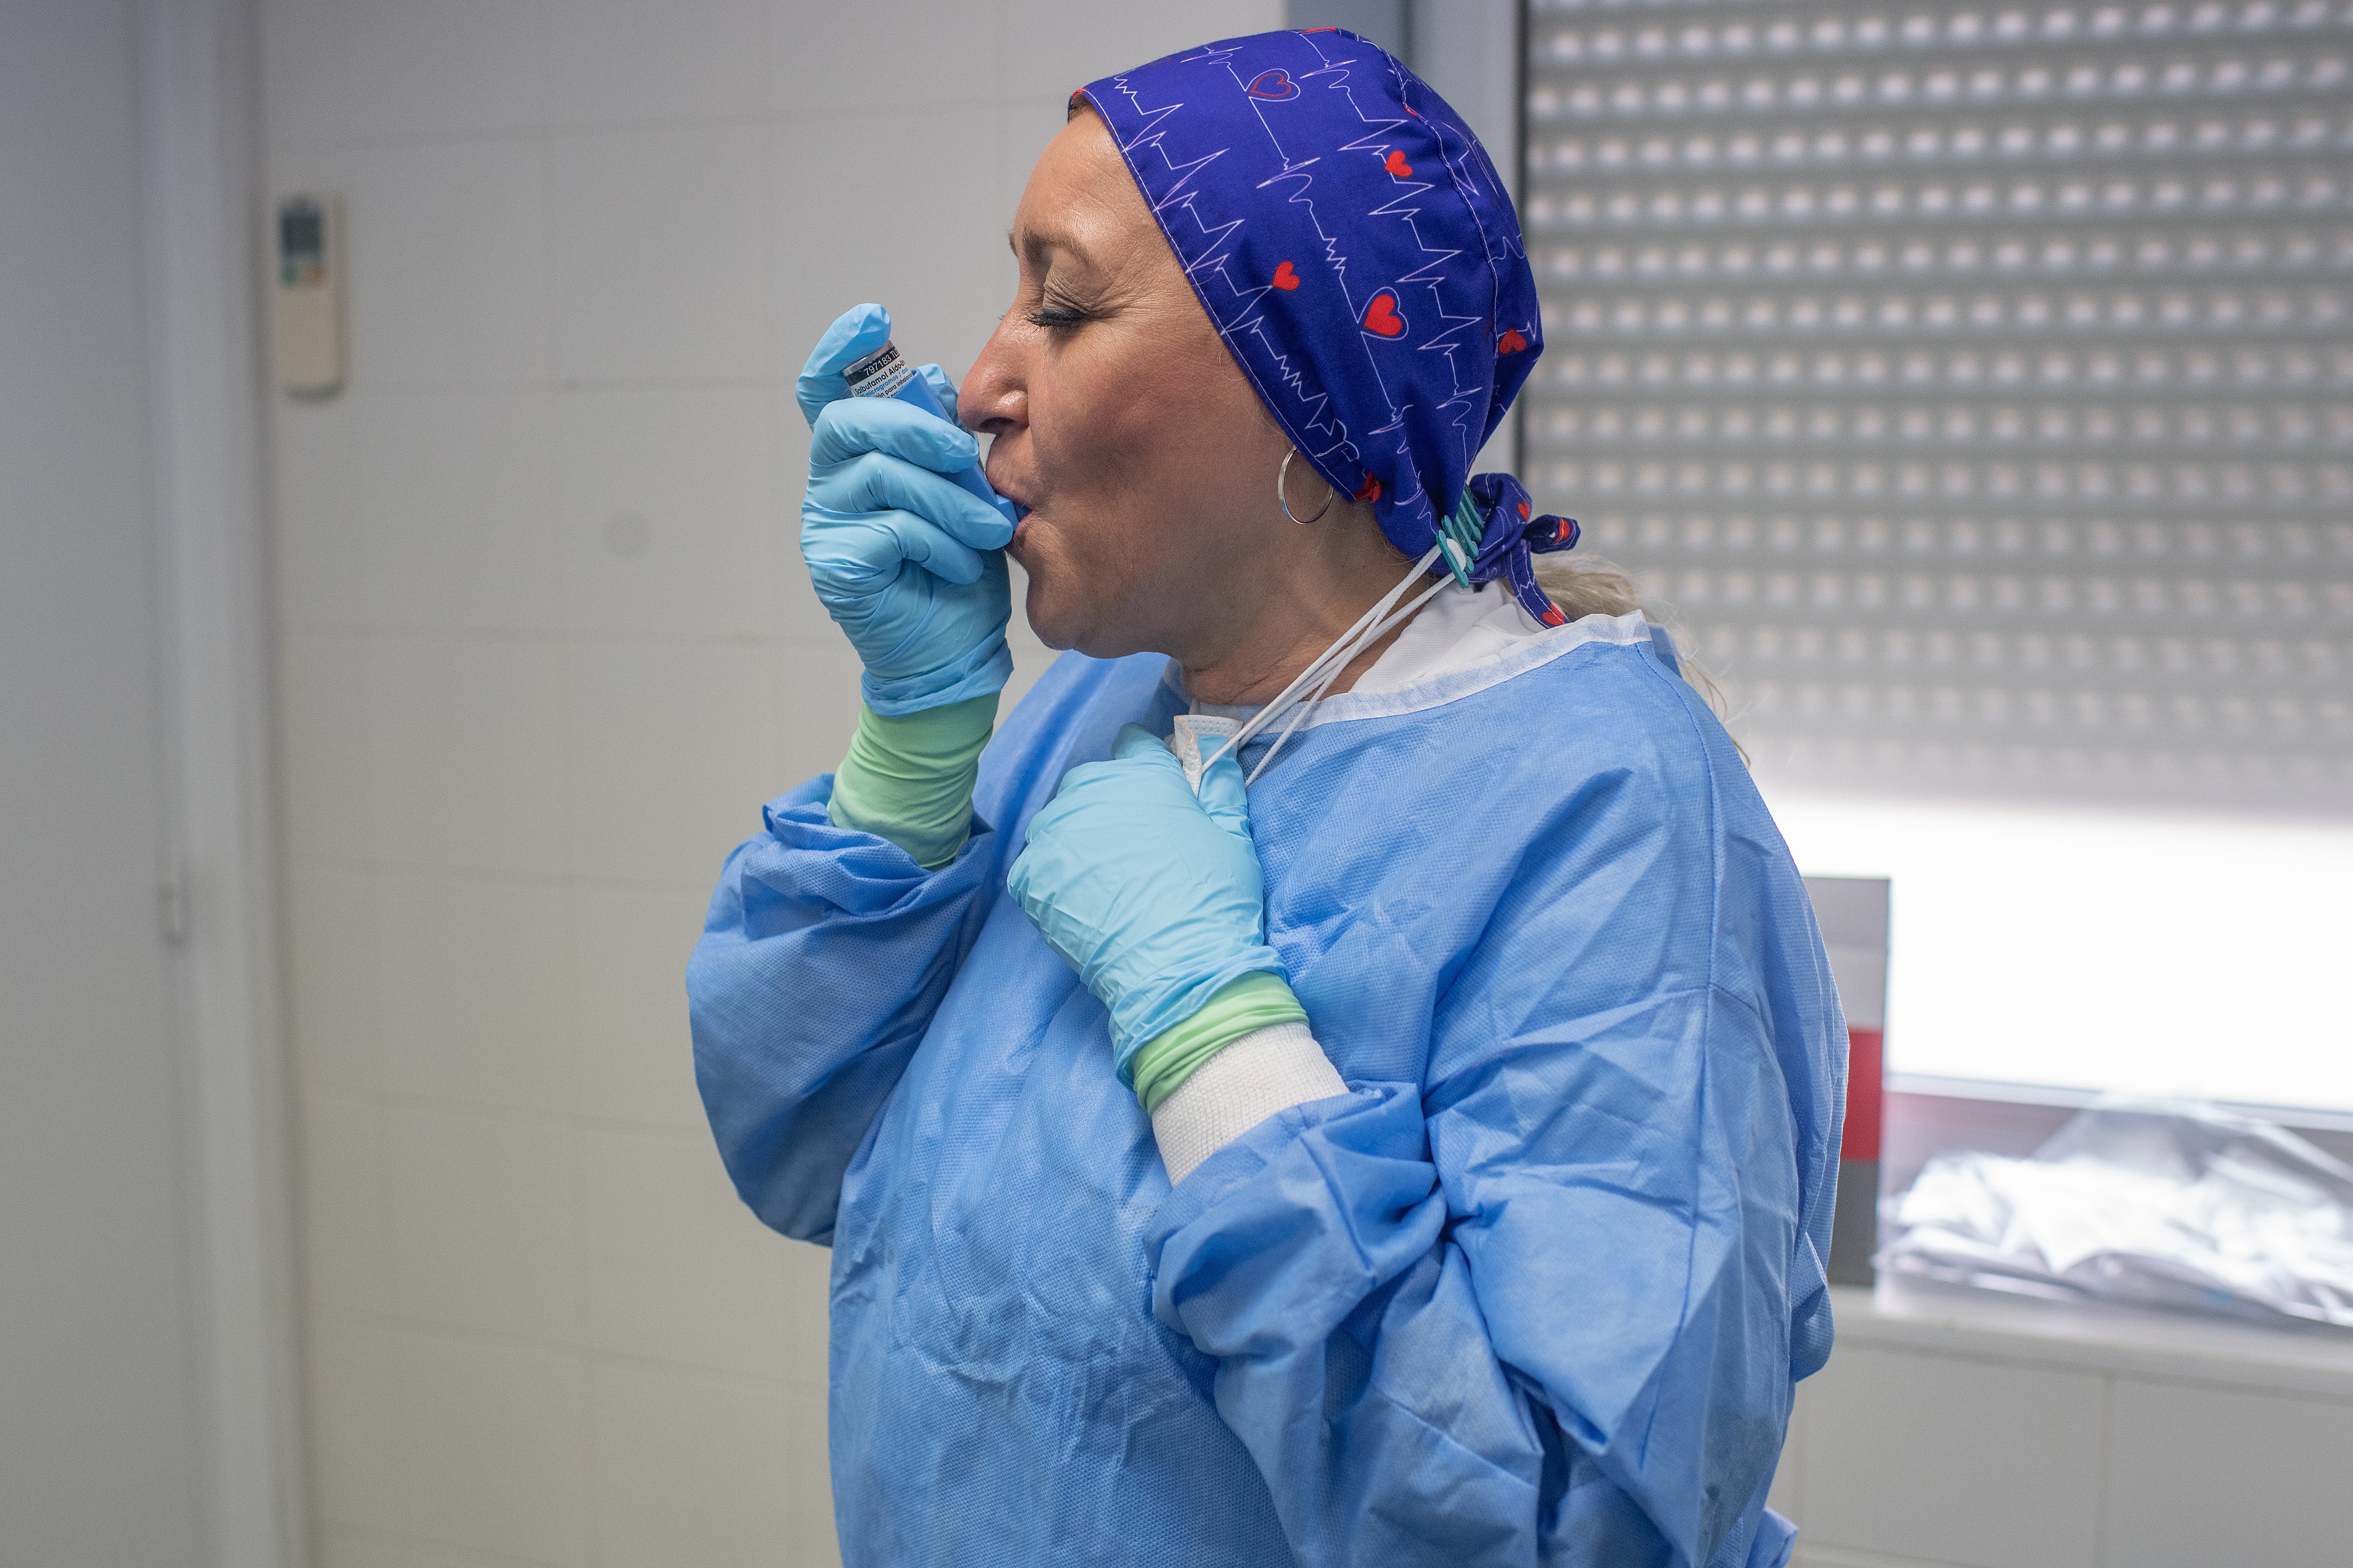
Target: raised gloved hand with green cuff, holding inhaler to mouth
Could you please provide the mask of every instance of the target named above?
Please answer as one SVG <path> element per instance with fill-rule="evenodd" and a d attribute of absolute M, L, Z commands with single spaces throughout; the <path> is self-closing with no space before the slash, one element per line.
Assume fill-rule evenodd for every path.
<path fill-rule="evenodd" d="M 899 360 L 882 306 L 826 329 L 795 395 L 809 421 L 800 552 L 866 665 L 828 816 L 946 865 L 969 835 L 972 780 L 1014 668 L 1012 505 L 955 423 L 955 388 L 936 364 Z"/>

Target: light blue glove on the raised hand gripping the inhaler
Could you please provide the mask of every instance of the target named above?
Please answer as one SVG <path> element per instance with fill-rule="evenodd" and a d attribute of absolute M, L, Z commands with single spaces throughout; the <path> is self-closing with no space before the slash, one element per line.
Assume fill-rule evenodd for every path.
<path fill-rule="evenodd" d="M 1012 524 L 944 477 L 979 458 L 965 430 L 894 397 L 842 395 L 840 369 L 880 348 L 880 339 L 864 343 L 866 313 L 889 334 L 889 317 L 861 306 L 826 331 L 800 374 L 802 411 L 816 404 L 800 555 L 866 663 L 866 705 L 896 717 L 1002 691 L 1012 677 L 1002 555 Z M 955 388 L 939 367 L 925 376 L 953 409 Z"/>

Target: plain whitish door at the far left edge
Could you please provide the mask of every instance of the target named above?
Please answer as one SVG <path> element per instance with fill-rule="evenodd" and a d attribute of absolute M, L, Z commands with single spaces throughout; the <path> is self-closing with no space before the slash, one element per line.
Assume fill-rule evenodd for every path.
<path fill-rule="evenodd" d="M 132 7 L 0 0 L 0 1563 L 198 1561 Z"/>

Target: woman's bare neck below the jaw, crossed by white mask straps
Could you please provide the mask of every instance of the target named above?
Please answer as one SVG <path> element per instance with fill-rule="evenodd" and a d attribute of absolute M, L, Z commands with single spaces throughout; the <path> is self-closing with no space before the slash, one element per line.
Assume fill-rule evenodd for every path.
<path fill-rule="evenodd" d="M 1280 588 L 1259 595 L 1252 614 L 1217 646 L 1179 658 L 1188 696 L 1217 708 L 1273 701 L 1398 585 L 1412 562 L 1388 548 L 1369 505 L 1351 508 L 1365 515 L 1341 517 L 1334 510 L 1311 524 L 1329 531 L 1299 538 L 1299 548 L 1287 550 L 1294 559 L 1266 562 L 1266 571 L 1254 574 Z M 1405 625 L 1393 628 L 1351 658 L 1332 682 L 1332 693 L 1348 691 L 1402 630 Z"/>

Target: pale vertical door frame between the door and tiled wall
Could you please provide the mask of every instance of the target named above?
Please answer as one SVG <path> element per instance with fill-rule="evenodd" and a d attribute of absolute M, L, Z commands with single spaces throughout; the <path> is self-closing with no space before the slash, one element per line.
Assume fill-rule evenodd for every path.
<path fill-rule="evenodd" d="M 202 1561 L 311 1556 L 278 743 L 261 482 L 261 113 L 249 0 L 136 0 L 167 856 Z"/>

